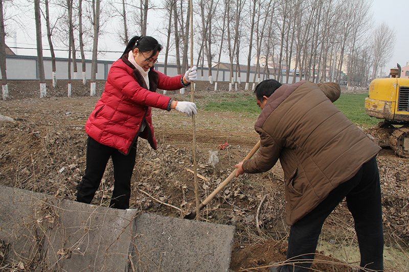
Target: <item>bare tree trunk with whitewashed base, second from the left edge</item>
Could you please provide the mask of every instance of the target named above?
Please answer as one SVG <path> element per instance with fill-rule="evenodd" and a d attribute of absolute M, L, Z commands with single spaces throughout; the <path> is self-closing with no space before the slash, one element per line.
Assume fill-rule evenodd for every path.
<path fill-rule="evenodd" d="M 38 75 L 40 78 L 40 97 L 47 96 L 46 75 L 44 73 L 44 62 L 42 58 L 42 41 L 41 41 L 41 13 L 40 0 L 34 0 L 34 18 L 37 40 L 37 65 Z"/>

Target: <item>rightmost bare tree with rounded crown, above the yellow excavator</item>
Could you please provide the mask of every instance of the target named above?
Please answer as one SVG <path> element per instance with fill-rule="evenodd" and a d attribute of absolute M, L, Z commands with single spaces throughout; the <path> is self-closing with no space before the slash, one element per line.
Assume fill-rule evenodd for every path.
<path fill-rule="evenodd" d="M 372 78 L 375 79 L 378 75 L 378 70 L 392 57 L 396 43 L 396 32 L 388 24 L 382 22 L 375 28 L 372 37 Z"/>

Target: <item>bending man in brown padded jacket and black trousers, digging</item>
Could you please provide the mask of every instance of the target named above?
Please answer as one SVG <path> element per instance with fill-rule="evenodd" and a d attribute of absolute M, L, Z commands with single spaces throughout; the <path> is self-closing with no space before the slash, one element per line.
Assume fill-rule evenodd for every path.
<path fill-rule="evenodd" d="M 336 83 L 261 82 L 255 90 L 262 109 L 255 124 L 260 149 L 236 165 L 237 176 L 284 170 L 287 260 L 270 271 L 308 271 L 328 215 L 344 197 L 359 243 L 362 269 L 383 270 L 381 192 L 373 143 L 333 104 Z M 363 271 L 363 270 L 361 270 Z"/>

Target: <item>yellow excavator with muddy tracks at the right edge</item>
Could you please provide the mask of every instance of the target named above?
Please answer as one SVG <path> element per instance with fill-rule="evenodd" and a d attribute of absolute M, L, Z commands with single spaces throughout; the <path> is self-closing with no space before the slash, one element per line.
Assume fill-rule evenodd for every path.
<path fill-rule="evenodd" d="M 365 99 L 365 112 L 383 119 L 369 130 L 380 146 L 390 146 L 395 154 L 409 158 L 409 79 L 401 79 L 401 67 L 391 69 L 390 78 L 375 79 Z"/>

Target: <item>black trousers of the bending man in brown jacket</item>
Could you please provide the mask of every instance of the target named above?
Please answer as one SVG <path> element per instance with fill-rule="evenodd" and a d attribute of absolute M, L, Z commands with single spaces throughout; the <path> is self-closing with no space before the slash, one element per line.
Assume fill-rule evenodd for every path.
<path fill-rule="evenodd" d="M 354 218 L 361 271 L 383 271 L 381 191 L 374 157 L 363 164 L 352 179 L 333 189 L 322 203 L 291 226 L 286 263 L 292 264 L 279 267 L 281 272 L 308 272 L 324 221 L 344 197 Z"/>

